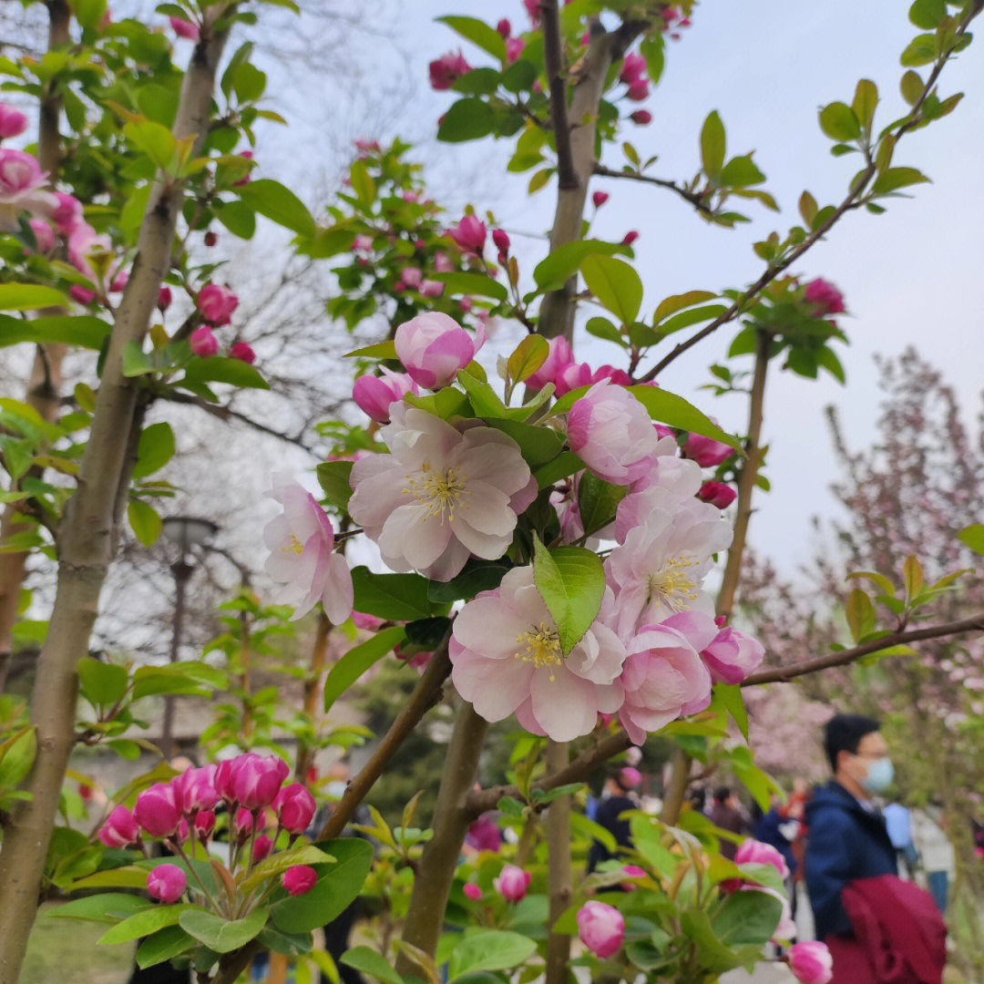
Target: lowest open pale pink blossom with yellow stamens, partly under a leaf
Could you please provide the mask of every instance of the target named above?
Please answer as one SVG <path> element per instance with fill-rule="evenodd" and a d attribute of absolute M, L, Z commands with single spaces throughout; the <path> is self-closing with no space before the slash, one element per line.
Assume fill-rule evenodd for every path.
<path fill-rule="evenodd" d="M 565 656 L 533 569 L 514 568 L 455 619 L 449 650 L 455 688 L 486 720 L 515 712 L 527 731 L 554 741 L 587 734 L 599 712 L 622 706 L 625 646 L 606 624 L 614 605 L 606 590 L 598 617 Z"/>

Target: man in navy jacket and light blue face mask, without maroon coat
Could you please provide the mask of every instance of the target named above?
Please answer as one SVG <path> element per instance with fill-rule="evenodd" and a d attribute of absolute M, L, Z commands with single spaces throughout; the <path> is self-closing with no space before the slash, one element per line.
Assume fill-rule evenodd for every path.
<path fill-rule="evenodd" d="M 840 898 L 845 886 L 898 873 L 885 818 L 871 799 L 893 777 L 878 721 L 837 714 L 828 722 L 824 748 L 833 778 L 817 790 L 806 812 L 806 887 L 818 940 L 830 933 L 852 935 Z"/>

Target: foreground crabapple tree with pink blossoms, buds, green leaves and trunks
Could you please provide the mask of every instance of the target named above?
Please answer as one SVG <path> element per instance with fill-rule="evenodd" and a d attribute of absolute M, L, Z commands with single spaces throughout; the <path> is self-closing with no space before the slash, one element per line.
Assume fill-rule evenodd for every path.
<path fill-rule="evenodd" d="M 740 688 L 981 627 L 977 615 L 883 628 L 865 609 L 849 619 L 853 646 L 763 668 L 765 647 L 729 624 L 753 495 L 767 486 L 769 368 L 807 378 L 823 368 L 843 379 L 832 343 L 845 339 L 835 320 L 844 301 L 823 278 L 789 271 L 842 215 L 882 212 L 899 189 L 925 180 L 894 162 L 897 145 L 953 110 L 959 97 L 941 97 L 938 80 L 969 42 L 978 5 L 912 6 L 924 32 L 902 55 L 906 105 L 884 129 L 874 124 L 870 81 L 850 104 L 824 107 L 833 153 L 860 154 L 863 167 L 839 203 L 820 206 L 803 193 L 802 224 L 756 244 L 764 272 L 739 289 L 687 289 L 645 311 L 631 262 L 636 234 L 584 237 L 588 194 L 595 209 L 606 198 L 592 191 L 593 177 L 668 190 L 727 228 L 743 219 L 734 209 L 744 202 L 775 208 L 765 176 L 751 154 L 728 158 L 715 112 L 691 179 L 657 176 L 654 158 L 644 162 L 628 143 L 622 167 L 603 162 L 627 123 L 651 122 L 640 103 L 659 81 L 667 44 L 688 26 L 690 3 L 525 6 L 529 25 L 519 32 L 506 21 L 445 18 L 485 64 L 453 52 L 430 69 L 434 88 L 456 96 L 440 140 L 515 139 L 510 168 L 536 168 L 530 193 L 556 178 L 550 249 L 525 271 L 508 234 L 490 235 L 491 220 L 469 211 L 439 225 L 402 145 L 360 146 L 338 205 L 317 218 L 277 181 L 254 175 L 261 162 L 244 142 L 257 119 L 277 115 L 258 106 L 266 79 L 250 46 L 226 42 L 238 22 L 264 16 L 262 4 L 160 5 L 184 45 L 176 48 L 159 27 L 114 23 L 97 0 L 52 2 L 45 58 L 0 66 L 8 89 L 40 102 L 36 146 L 0 149 L 0 300 L 22 314 L 4 317 L 0 339 L 36 346 L 44 379 L 28 400 L 2 404 L 4 533 L 22 571 L 30 550 L 58 567 L 31 707 L 5 696 L 0 718 L 4 981 L 18 976 L 42 890 L 146 890 L 153 901 L 100 892 L 61 915 L 112 923 L 107 944 L 143 938 L 142 965 L 173 959 L 222 984 L 261 949 L 303 959 L 311 932 L 360 892 L 386 896 L 396 931 L 342 959 L 390 982 L 436 981 L 444 971 L 451 980 L 479 971 L 506 979 L 522 966 L 556 984 L 568 979 L 575 936 L 585 950 L 577 959 L 592 972 L 629 980 L 712 980 L 753 966 L 792 935 L 785 865 L 754 842 L 724 859 L 718 846 L 729 834 L 684 809 L 693 760 L 727 769 L 768 800 L 772 785 L 751 750 L 725 740 L 730 723 L 747 739 Z M 175 58 L 182 51 L 186 69 Z M 5 107 L 0 127 L 17 139 L 27 117 Z M 272 482 L 282 513 L 263 531 L 267 574 L 295 619 L 320 606 L 321 638 L 331 625 L 367 633 L 329 672 L 326 709 L 398 647 L 417 657 L 419 680 L 314 828 L 304 770 L 286 783 L 280 757 L 247 752 L 203 769 L 162 764 L 120 790 L 80 843 L 55 828 L 80 734 L 124 749 L 134 702 L 227 686 L 208 661 L 160 670 L 88 650 L 124 512 L 153 542 L 160 519 L 151 502 L 172 492 L 151 476 L 173 453 L 173 432 L 166 422 L 145 426 L 149 409 L 177 398 L 214 404 L 226 387 L 268 385 L 252 347 L 235 336 L 238 298 L 192 248 L 199 237 L 208 245 L 215 223 L 251 237 L 257 215 L 291 230 L 299 253 L 335 258 L 328 314 L 339 328 L 383 314 L 389 329 L 352 353 L 352 398 L 368 422 L 325 422 L 336 450 L 317 465 L 323 496 L 289 477 Z M 603 312 L 585 329 L 616 346 L 619 365 L 577 359 L 584 301 Z M 476 356 L 492 318 L 512 319 L 526 335 L 490 380 Z M 729 364 L 711 372 L 719 393 L 747 387 L 741 438 L 657 385 L 679 354 L 732 325 Z M 63 412 L 60 360 L 87 349 L 92 385 L 77 387 Z M 732 368 L 748 355 L 751 374 Z M 732 504 L 733 521 L 724 512 Z M 380 564 L 349 563 L 344 545 L 356 538 L 374 544 Z M 715 599 L 707 579 L 725 551 Z M 3 585 L 11 613 L 20 604 L 15 568 Z M 907 596 L 906 610 L 930 604 L 954 577 Z M 236 607 L 251 603 L 244 595 Z M 81 728 L 77 688 L 88 707 Z M 373 815 L 362 828 L 380 844 L 374 862 L 368 842 L 340 835 L 442 701 L 455 721 L 433 815 L 414 827 L 415 799 L 399 828 Z M 507 718 L 522 731 L 508 781 L 476 788 L 489 724 Z M 234 726 L 223 733 L 234 740 Z M 572 798 L 588 775 L 654 734 L 675 749 L 662 817 L 634 815 L 626 857 L 575 882 L 574 853 L 580 862 L 586 842 L 605 833 L 572 814 Z M 469 831 L 490 811 L 517 831 L 517 847 L 493 849 L 498 825 L 486 817 L 493 829 L 459 865 Z M 151 857 L 149 841 L 167 856 Z M 464 932 L 444 933 L 446 925 Z M 803 981 L 829 979 L 822 945 L 799 945 L 786 959 Z"/>

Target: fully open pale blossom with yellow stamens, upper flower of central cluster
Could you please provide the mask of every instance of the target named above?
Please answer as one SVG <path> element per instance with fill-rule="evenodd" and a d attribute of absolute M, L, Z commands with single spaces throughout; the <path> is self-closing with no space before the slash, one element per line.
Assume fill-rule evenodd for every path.
<path fill-rule="evenodd" d="M 453 427 L 394 403 L 380 430 L 389 455 L 352 466 L 348 512 L 395 571 L 450 581 L 471 554 L 501 557 L 536 494 L 519 445 L 492 427 Z"/>

